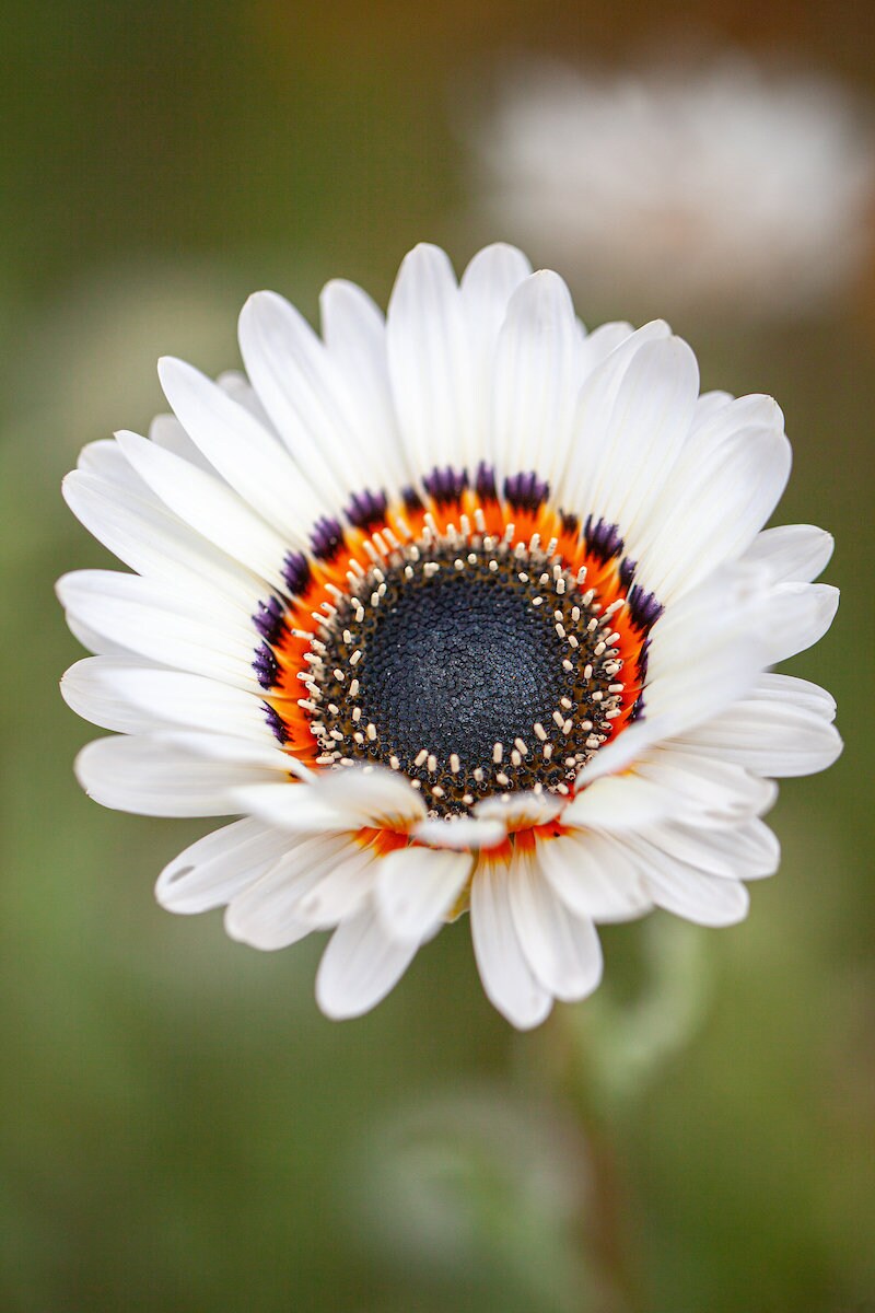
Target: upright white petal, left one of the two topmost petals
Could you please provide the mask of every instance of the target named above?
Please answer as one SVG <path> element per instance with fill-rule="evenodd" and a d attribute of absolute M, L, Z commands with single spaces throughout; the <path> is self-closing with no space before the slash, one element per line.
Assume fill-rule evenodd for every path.
<path fill-rule="evenodd" d="M 420 473 L 476 465 L 471 352 L 453 265 L 438 247 L 404 257 L 386 318 L 400 429 Z"/>

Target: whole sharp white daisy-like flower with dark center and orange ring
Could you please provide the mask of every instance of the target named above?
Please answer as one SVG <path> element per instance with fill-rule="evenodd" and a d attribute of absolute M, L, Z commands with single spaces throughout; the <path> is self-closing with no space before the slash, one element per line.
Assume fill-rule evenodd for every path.
<path fill-rule="evenodd" d="M 767 397 L 698 395 L 656 322 L 586 335 L 506 246 L 460 285 L 417 247 L 384 320 L 331 282 L 323 339 L 273 293 L 249 382 L 178 360 L 176 419 L 87 446 L 64 495 L 135 574 L 59 595 L 98 655 L 63 681 L 118 731 L 77 773 L 105 806 L 241 814 L 161 873 L 282 948 L 337 927 L 331 1016 L 373 1007 L 466 909 L 518 1027 L 598 983 L 594 923 L 707 926 L 770 874 L 769 776 L 828 765 L 823 689 L 766 667 L 837 605 L 809 525 L 760 532 L 790 470 Z"/>

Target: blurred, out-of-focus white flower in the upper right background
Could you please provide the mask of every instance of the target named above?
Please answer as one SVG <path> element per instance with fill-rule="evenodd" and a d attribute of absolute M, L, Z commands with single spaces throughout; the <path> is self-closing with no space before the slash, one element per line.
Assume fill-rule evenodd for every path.
<path fill-rule="evenodd" d="M 741 55 L 638 74 L 523 67 L 480 122 L 475 188 L 491 222 L 590 299 L 799 314 L 871 251 L 866 119 L 841 84 Z"/>

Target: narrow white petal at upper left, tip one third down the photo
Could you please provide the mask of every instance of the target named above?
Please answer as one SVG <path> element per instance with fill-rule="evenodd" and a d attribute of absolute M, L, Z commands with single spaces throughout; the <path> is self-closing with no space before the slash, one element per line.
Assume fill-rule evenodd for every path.
<path fill-rule="evenodd" d="M 138 433 L 119 432 L 115 439 L 138 474 L 180 520 L 282 591 L 289 544 L 227 483 Z"/>

